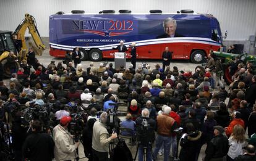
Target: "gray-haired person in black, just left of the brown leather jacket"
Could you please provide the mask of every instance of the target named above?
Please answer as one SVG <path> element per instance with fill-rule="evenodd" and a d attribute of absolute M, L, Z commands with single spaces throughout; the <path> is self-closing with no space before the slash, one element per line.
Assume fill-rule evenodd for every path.
<path fill-rule="evenodd" d="M 136 119 L 137 139 L 139 141 L 139 161 L 143 160 L 143 148 L 147 148 L 147 160 L 152 160 L 152 146 L 155 141 L 156 122 L 149 117 L 148 109 L 142 110 L 142 116 Z"/>

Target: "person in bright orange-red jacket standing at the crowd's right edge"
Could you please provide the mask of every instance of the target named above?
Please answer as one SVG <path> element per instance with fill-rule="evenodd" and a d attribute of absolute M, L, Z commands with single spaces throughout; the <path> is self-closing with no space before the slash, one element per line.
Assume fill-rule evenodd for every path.
<path fill-rule="evenodd" d="M 235 125 L 239 124 L 244 128 L 244 121 L 241 118 L 241 113 L 234 111 L 232 114 L 233 120 L 229 123 L 228 127 L 225 128 L 225 133 L 229 137 L 233 133 L 233 128 Z"/>

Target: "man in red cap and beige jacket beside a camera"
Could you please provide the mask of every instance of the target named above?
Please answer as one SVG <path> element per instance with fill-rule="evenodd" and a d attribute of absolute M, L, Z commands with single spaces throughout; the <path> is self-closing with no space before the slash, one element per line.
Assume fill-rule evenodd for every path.
<path fill-rule="evenodd" d="M 59 121 L 59 125 L 53 129 L 54 157 L 56 161 L 75 159 L 75 149 L 79 147 L 79 142 L 74 143 L 73 136 L 67 131 L 67 126 L 69 126 L 71 120 L 71 117 L 64 116 Z"/>

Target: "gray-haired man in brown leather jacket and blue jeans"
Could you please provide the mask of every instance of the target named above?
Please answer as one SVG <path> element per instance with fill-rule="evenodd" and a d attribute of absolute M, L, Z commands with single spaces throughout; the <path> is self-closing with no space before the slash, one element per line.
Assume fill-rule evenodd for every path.
<path fill-rule="evenodd" d="M 171 107 L 166 106 L 164 107 L 163 114 L 158 115 L 156 118 L 158 137 L 156 137 L 156 146 L 153 152 L 155 160 L 162 144 L 164 146 L 164 161 L 168 161 L 169 158 L 173 130 L 177 128 L 177 123 L 175 120 L 169 117 L 170 112 Z"/>

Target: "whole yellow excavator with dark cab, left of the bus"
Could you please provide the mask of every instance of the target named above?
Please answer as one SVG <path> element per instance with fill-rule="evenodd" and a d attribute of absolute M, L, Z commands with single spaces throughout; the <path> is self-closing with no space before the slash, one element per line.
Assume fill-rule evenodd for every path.
<path fill-rule="evenodd" d="M 7 65 L 7 57 L 10 51 L 14 52 L 19 62 L 27 60 L 28 47 L 25 41 L 25 32 L 27 29 L 35 43 L 34 46 L 29 42 L 28 46 L 33 48 L 35 54 L 41 56 L 43 50 L 46 49 L 37 30 L 35 18 L 32 15 L 25 14 L 25 19 L 20 22 L 13 33 L 11 31 L 0 30 L 0 63 L 4 70 L 2 74 L 6 77 L 11 75 L 11 71 Z M 19 62 L 15 65 L 17 70 L 19 68 Z"/>

